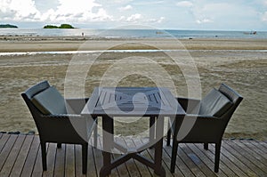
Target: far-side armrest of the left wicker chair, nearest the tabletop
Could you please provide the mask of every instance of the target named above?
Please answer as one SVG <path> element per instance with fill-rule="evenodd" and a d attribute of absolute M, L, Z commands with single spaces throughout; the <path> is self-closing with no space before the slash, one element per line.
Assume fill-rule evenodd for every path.
<path fill-rule="evenodd" d="M 65 99 L 65 101 L 69 114 L 80 114 L 89 98 L 71 98 Z"/>

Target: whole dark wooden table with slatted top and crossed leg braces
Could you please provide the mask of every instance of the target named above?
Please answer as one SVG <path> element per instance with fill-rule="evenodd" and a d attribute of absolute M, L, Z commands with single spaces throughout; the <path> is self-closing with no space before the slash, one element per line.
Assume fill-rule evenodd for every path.
<path fill-rule="evenodd" d="M 117 165 L 130 158 L 154 169 L 154 173 L 166 176 L 161 165 L 164 136 L 164 117 L 182 117 L 184 110 L 167 88 L 159 87 L 96 87 L 86 103 L 83 115 L 102 117 L 103 166 L 100 176 L 108 176 Z M 137 149 L 126 149 L 114 141 L 113 117 L 150 117 L 150 142 Z M 157 119 L 156 124 L 155 119 Z M 155 148 L 154 161 L 142 157 L 145 148 Z M 111 162 L 111 149 L 116 148 L 125 155 Z"/>

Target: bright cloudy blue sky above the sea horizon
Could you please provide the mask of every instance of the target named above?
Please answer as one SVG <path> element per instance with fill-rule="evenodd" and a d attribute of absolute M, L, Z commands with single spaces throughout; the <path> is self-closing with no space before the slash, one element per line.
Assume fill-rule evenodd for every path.
<path fill-rule="evenodd" d="M 0 24 L 6 23 L 267 31 L 267 0 L 0 0 Z"/>

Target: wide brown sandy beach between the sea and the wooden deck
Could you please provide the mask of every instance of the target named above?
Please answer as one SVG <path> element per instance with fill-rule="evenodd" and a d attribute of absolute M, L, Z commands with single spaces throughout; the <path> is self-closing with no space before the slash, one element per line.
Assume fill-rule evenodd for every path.
<path fill-rule="evenodd" d="M 136 50 L 136 52 L 114 52 L 116 50 Z M 175 50 L 174 55 L 179 57 L 183 57 L 183 52 L 188 50 L 186 52 L 190 55 L 187 54 L 184 58 L 190 57 L 196 63 L 202 95 L 211 88 L 226 83 L 244 97 L 244 101 L 231 118 L 224 134 L 225 138 L 267 140 L 266 39 L 193 38 L 175 41 L 101 38 L 87 40 L 81 36 L 0 36 L 0 131 L 20 131 L 21 133 L 36 131 L 34 121 L 20 93 L 36 82 L 49 80 L 64 94 L 69 61 L 74 58 L 93 60 L 96 55 L 98 56 L 86 76 L 86 96 L 90 96 L 93 87 L 101 83 L 102 76 L 117 60 L 136 57 L 147 58 L 158 63 L 173 79 L 177 93 L 175 96 L 185 97 L 187 86 L 182 70 L 179 68 L 181 66 L 177 66 L 166 56 L 164 50 Z M 92 52 L 67 53 L 68 51 Z M 7 52 L 13 52 L 13 54 Z M 128 63 L 125 63 L 125 67 L 127 65 Z M 150 63 L 145 63 L 144 69 L 153 71 Z M 157 75 L 155 69 L 154 72 Z M 109 76 L 108 79 L 114 78 Z M 158 79 L 164 81 L 166 78 L 158 75 Z M 155 86 L 155 83 L 145 76 L 135 74 L 125 76 L 118 85 Z M 145 131 L 144 121 L 147 120 L 138 120 L 126 125 L 117 122 L 117 126 L 123 127 L 120 129 L 121 132 L 117 133 L 126 134 L 129 130 Z"/>

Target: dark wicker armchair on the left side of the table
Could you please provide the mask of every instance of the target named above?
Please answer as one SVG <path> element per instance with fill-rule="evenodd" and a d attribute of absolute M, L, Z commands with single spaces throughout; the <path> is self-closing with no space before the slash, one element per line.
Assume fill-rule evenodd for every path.
<path fill-rule="evenodd" d="M 39 133 L 43 170 L 47 170 L 46 142 L 57 143 L 58 148 L 61 148 L 61 143 L 70 143 L 82 145 L 83 173 L 86 173 L 88 140 L 92 133 L 94 140 L 97 138 L 96 120 L 80 115 L 88 98 L 65 100 L 47 81 L 28 88 L 21 96 Z"/>

